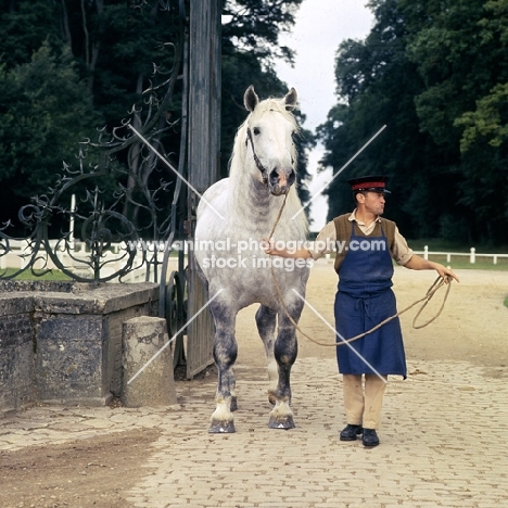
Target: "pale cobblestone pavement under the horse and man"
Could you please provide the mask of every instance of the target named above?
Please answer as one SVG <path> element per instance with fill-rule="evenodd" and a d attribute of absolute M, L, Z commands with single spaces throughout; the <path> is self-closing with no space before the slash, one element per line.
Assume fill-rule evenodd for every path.
<path fill-rule="evenodd" d="M 156 428 L 135 507 L 501 507 L 508 493 L 508 388 L 467 363 L 409 364 L 389 383 L 381 445 L 339 441 L 331 359 L 297 360 L 296 428 L 267 428 L 266 383 L 237 371 L 236 434 L 207 433 L 215 379 L 178 382 L 179 406 L 35 407 L 0 420 L 0 450 Z M 212 378 L 212 377 L 211 377 Z M 257 379 L 256 379 L 257 378 Z"/>

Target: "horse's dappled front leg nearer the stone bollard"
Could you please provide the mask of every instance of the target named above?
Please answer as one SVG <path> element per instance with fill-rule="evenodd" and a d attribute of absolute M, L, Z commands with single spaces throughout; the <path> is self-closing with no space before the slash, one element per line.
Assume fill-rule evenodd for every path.
<path fill-rule="evenodd" d="M 232 411 L 237 409 L 234 397 L 233 365 L 237 360 L 238 345 L 234 338 L 234 318 L 225 317 L 223 313 L 214 313 L 215 339 L 214 359 L 218 370 L 217 392 L 215 396 L 216 408 L 211 418 L 208 432 L 234 432 L 234 418 Z"/>

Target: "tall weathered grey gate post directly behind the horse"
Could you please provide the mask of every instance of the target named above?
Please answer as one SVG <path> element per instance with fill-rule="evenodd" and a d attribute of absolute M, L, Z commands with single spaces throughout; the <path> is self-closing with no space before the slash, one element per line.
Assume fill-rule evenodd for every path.
<path fill-rule="evenodd" d="M 189 27 L 189 181 L 202 194 L 220 168 L 220 13 L 221 0 L 190 0 Z M 190 238 L 194 238 L 199 196 L 189 190 Z M 214 326 L 208 300 L 189 250 L 187 377 L 213 363 Z"/>

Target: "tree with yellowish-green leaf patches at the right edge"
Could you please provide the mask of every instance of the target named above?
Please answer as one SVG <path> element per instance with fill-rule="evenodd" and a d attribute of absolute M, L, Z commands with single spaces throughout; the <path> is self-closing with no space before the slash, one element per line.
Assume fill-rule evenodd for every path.
<path fill-rule="evenodd" d="M 412 2 L 402 3 L 411 11 Z M 508 191 L 503 170 L 508 162 L 503 135 L 508 2 L 430 2 L 426 8 L 422 17 L 431 23 L 414 21 L 418 31 L 408 54 L 426 84 L 415 98 L 420 128 L 439 147 L 456 190 L 458 206 L 448 212 L 456 226 L 469 230 L 470 241 L 506 242 L 506 212 L 492 198 L 494 188 Z"/>

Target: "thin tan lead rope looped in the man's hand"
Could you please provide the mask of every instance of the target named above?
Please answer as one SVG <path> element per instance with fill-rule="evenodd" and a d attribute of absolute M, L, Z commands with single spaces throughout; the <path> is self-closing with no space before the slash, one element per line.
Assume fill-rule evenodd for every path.
<path fill-rule="evenodd" d="M 282 211 L 285 206 L 285 200 L 288 199 L 288 194 L 284 195 L 284 201 L 282 202 L 282 206 L 280 207 L 280 211 L 279 211 L 279 215 L 277 216 L 277 219 L 274 224 L 274 227 L 271 228 L 271 231 L 270 231 L 270 234 L 268 237 L 268 240 L 271 239 L 271 237 L 274 236 L 274 232 L 277 228 L 277 225 L 279 224 L 279 220 L 280 220 L 280 217 L 282 215 Z M 310 338 L 309 335 L 307 335 L 304 331 L 302 331 L 302 329 L 299 327 L 297 322 L 291 317 L 291 315 L 289 314 L 289 310 L 288 310 L 288 307 L 285 306 L 285 303 L 284 303 L 284 299 L 282 296 L 282 292 L 280 290 L 280 287 L 279 287 L 279 283 L 277 282 L 277 277 L 275 275 L 275 271 L 274 271 L 274 265 L 270 263 L 270 271 L 271 271 L 271 277 L 274 279 L 274 283 L 275 283 L 275 287 L 276 287 L 276 290 L 277 290 L 277 294 L 279 296 L 279 300 L 281 301 L 282 303 L 282 307 L 284 309 L 284 313 L 285 315 L 288 316 L 289 320 L 291 321 L 291 323 L 294 326 L 294 328 L 300 332 L 302 333 L 302 335 L 304 335 L 305 338 L 307 338 L 310 342 L 314 342 L 315 344 L 317 345 L 321 345 L 321 346 L 331 346 L 331 347 L 335 347 L 338 345 L 343 345 L 345 343 L 350 343 L 350 342 L 353 342 L 353 341 L 357 341 L 358 339 L 361 339 L 363 336 L 365 335 L 368 335 L 369 333 L 372 333 L 373 331 L 378 330 L 379 328 L 383 327 L 384 325 L 386 325 L 389 321 L 391 321 L 392 319 L 395 319 L 396 317 L 398 316 L 402 316 L 404 313 L 407 313 L 408 310 L 410 310 L 412 307 L 415 307 L 416 305 L 418 305 L 419 303 L 422 303 L 423 302 L 423 305 L 420 307 L 420 309 L 418 310 L 417 315 L 415 316 L 415 318 L 412 319 L 412 328 L 419 330 L 420 328 L 424 328 L 427 327 L 428 325 L 430 325 L 432 321 L 434 321 L 442 313 L 443 308 L 444 308 L 444 305 L 446 303 L 446 300 L 448 299 L 448 294 L 449 294 L 449 290 L 452 289 L 452 278 L 450 277 L 446 277 L 446 279 L 443 279 L 441 276 L 437 277 L 437 279 L 435 279 L 435 281 L 433 282 L 433 284 L 427 290 L 427 294 L 420 299 L 420 300 L 417 300 L 415 303 L 412 303 L 411 305 L 409 305 L 408 307 L 406 307 L 405 309 L 394 314 L 393 316 L 384 319 L 384 321 L 381 321 L 379 325 L 376 325 L 376 327 L 371 328 L 370 330 L 367 330 L 365 333 L 360 333 L 358 335 L 355 335 L 355 336 L 352 336 L 351 339 L 344 339 L 342 340 L 341 342 L 335 342 L 333 344 L 327 342 L 319 342 L 319 341 L 316 341 L 315 339 Z M 434 294 L 437 292 L 437 290 L 444 284 L 444 283 L 447 283 L 447 289 L 446 289 L 446 293 L 443 297 L 443 302 L 441 304 L 441 307 L 440 309 L 437 310 L 436 315 L 434 317 L 432 317 L 431 319 L 429 319 L 428 321 L 426 321 L 423 325 L 419 325 L 419 326 L 416 326 L 416 321 L 418 319 L 418 317 L 420 316 L 420 314 L 423 312 L 423 309 L 426 308 L 427 304 L 431 301 L 432 296 L 434 296 Z"/>

